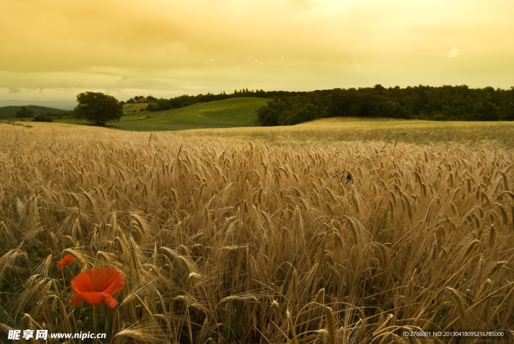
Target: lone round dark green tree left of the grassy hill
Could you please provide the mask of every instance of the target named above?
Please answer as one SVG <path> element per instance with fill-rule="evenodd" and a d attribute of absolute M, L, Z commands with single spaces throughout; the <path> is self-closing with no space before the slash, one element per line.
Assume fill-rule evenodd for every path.
<path fill-rule="evenodd" d="M 74 109 L 75 117 L 96 125 L 119 121 L 123 115 L 123 105 L 113 96 L 101 92 L 78 94 L 77 102 L 79 105 Z"/>

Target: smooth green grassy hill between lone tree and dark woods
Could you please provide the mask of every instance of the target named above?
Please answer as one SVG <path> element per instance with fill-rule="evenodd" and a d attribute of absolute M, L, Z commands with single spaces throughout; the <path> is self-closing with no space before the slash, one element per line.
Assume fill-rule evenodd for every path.
<path fill-rule="evenodd" d="M 196 103 L 186 107 L 157 112 L 128 113 L 119 122 L 107 123 L 108 128 L 134 131 L 187 130 L 258 126 L 257 109 L 267 98 L 231 98 Z M 86 123 L 71 118 L 55 120 L 64 123 Z"/>

